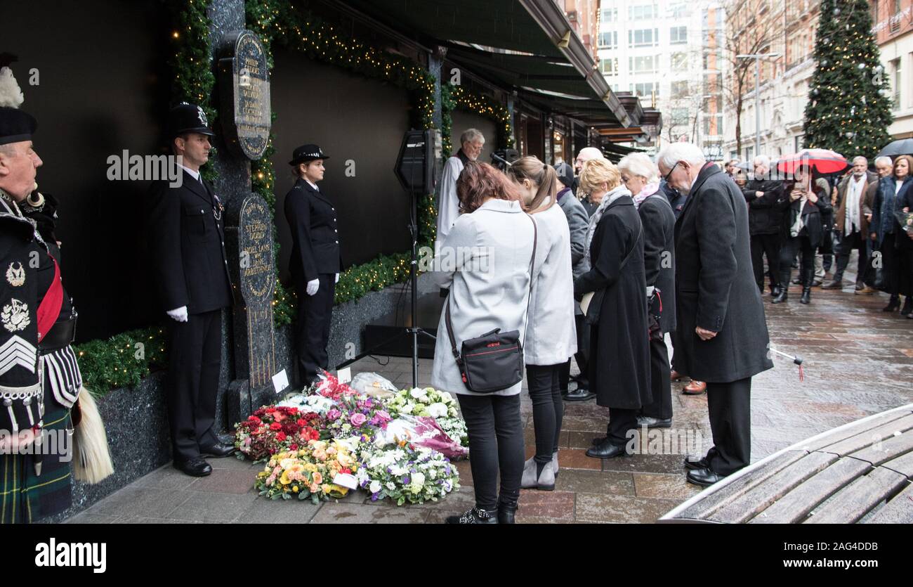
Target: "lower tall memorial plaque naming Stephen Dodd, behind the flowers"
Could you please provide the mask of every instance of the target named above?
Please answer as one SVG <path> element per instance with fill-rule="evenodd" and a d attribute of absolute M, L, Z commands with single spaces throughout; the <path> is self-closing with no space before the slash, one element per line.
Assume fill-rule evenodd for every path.
<path fill-rule="evenodd" d="M 240 373 L 247 367 L 250 390 L 272 388 L 276 374 L 276 344 L 273 331 L 273 219 L 267 203 L 251 195 L 241 205 L 237 227 L 239 289 L 244 298 L 247 332 L 247 365 L 238 358 Z M 239 326 L 244 326 L 239 325 Z M 247 336 L 243 336 L 246 334 Z M 243 376 L 243 375 L 242 375 Z"/>

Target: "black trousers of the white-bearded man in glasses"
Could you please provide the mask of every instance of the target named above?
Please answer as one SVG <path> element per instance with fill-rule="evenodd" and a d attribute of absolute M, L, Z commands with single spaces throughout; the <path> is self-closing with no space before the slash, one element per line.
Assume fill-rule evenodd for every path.
<path fill-rule="evenodd" d="M 707 409 L 713 432 L 713 448 L 707 454 L 710 469 L 730 475 L 751 460 L 751 378 L 708 381 Z"/>

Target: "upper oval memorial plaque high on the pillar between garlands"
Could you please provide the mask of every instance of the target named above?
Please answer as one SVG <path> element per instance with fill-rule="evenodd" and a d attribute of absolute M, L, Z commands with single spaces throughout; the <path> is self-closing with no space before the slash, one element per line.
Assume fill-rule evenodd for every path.
<path fill-rule="evenodd" d="M 267 55 L 252 31 L 236 35 L 231 55 L 219 59 L 222 128 L 237 155 L 259 159 L 267 150 L 271 125 Z"/>

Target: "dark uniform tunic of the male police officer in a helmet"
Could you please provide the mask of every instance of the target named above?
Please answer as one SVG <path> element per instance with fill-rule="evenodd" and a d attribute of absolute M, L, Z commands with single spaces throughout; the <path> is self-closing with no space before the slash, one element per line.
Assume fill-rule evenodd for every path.
<path fill-rule="evenodd" d="M 202 314 L 231 305 L 223 219 L 213 188 L 184 171 L 180 187 L 152 182 L 148 200 L 152 270 L 165 311 Z M 221 211 L 218 212 L 222 216 Z"/>

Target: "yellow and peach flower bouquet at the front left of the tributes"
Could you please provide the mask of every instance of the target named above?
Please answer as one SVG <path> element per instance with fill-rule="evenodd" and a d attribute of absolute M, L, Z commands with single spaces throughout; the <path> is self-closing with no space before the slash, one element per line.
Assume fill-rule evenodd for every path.
<path fill-rule="evenodd" d="M 317 504 L 321 499 L 346 496 L 349 488 L 334 480 L 341 481 L 339 475 L 352 476 L 358 471 L 349 444 L 312 440 L 297 451 L 274 454 L 257 474 L 254 486 L 261 496 L 270 499 L 298 496 Z"/>

